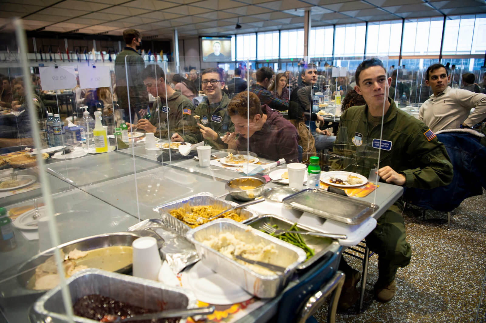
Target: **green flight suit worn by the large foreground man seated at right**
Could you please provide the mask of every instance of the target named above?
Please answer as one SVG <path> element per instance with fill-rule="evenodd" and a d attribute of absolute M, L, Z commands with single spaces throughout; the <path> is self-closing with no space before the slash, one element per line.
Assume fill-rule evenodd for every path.
<path fill-rule="evenodd" d="M 405 187 L 432 189 L 451 183 L 452 164 L 445 146 L 423 122 L 399 110 L 389 100 L 391 105 L 383 118 L 380 165 L 379 149 L 374 146 L 380 146 L 381 122 L 372 127 L 367 119 L 368 107 L 364 105 L 351 107 L 341 115 L 333 146 L 334 153 L 353 158 L 354 162 L 344 164 L 336 160 L 331 167 L 347 166 L 346 170 L 368 177 L 372 168 L 390 166 L 405 176 Z M 393 281 L 398 268 L 410 263 L 412 252 L 405 240 L 402 210 L 400 198 L 383 213 L 376 228 L 366 237 L 369 249 L 379 255 L 379 285 Z"/>

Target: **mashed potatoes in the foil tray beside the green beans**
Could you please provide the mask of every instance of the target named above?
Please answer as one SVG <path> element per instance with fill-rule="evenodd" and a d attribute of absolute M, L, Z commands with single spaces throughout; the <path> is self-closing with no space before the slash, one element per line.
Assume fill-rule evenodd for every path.
<path fill-rule="evenodd" d="M 234 234 L 225 232 L 211 237 L 202 243 L 208 247 L 222 253 L 242 265 L 248 267 L 251 271 L 260 275 L 275 275 L 275 272 L 261 267 L 259 265 L 249 264 L 243 260 L 236 259 L 234 255 L 241 255 L 244 258 L 271 263 L 273 256 L 277 255 L 276 245 L 273 243 L 260 242 L 258 244 L 249 243 L 239 239 Z"/>

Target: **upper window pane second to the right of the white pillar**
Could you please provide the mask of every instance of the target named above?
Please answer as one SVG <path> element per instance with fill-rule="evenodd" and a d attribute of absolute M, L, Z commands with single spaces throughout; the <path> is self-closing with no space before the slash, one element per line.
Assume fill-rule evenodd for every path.
<path fill-rule="evenodd" d="M 363 56 L 366 24 L 349 24 L 336 26 L 334 56 Z"/>

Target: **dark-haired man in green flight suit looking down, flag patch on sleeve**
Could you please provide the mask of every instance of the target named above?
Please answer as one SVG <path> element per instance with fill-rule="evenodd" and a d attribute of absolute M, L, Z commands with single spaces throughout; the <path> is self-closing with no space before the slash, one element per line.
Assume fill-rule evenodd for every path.
<path fill-rule="evenodd" d="M 199 129 L 193 116 L 194 106 L 191 101 L 180 91 L 168 86 L 164 71 L 158 65 L 148 65 L 143 70 L 141 78 L 147 91 L 156 97 L 157 101 L 152 108 L 154 112 L 150 119 L 139 119 L 137 128 L 153 132 L 156 137 L 162 139 L 180 134 L 183 141 L 196 143 Z"/>

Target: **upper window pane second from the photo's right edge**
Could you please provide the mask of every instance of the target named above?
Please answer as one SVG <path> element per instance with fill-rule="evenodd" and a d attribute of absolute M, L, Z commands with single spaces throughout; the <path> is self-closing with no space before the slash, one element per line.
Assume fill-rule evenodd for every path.
<path fill-rule="evenodd" d="M 443 24 L 443 17 L 406 19 L 402 55 L 438 55 Z"/>

